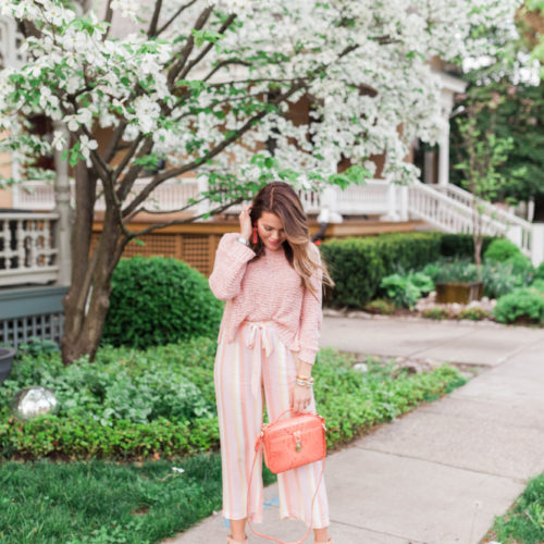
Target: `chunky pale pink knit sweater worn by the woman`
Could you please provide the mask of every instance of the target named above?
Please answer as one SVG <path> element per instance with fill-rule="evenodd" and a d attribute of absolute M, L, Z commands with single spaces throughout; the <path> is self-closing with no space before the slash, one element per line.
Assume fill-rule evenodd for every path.
<path fill-rule="evenodd" d="M 313 364 L 323 321 L 323 271 L 317 269 L 310 280 L 317 288 L 316 299 L 282 248 L 264 247 L 265 254 L 249 262 L 256 254 L 237 242 L 238 236 L 226 233 L 221 237 L 209 277 L 215 297 L 226 301 L 218 342 L 233 342 L 244 320 L 272 320 L 282 342 L 297 351 L 301 361 Z M 318 247 L 310 244 L 310 248 L 321 262 Z"/>

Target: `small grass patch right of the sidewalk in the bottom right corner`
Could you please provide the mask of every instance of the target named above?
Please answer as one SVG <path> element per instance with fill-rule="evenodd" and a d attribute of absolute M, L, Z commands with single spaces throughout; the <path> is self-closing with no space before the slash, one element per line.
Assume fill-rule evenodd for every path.
<path fill-rule="evenodd" d="M 482 540 L 500 544 L 540 544 L 544 542 L 544 473 L 533 478 L 512 507 L 495 518 Z"/>

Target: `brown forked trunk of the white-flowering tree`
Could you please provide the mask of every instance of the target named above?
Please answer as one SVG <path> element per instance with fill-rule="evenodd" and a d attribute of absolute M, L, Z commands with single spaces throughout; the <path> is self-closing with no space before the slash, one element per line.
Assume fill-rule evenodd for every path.
<path fill-rule="evenodd" d="M 92 178 L 85 164 L 76 166 L 72 283 L 63 300 L 61 351 L 64 364 L 84 355 L 94 360 L 108 313 L 111 276 L 119 260 L 116 248 L 121 230 L 111 210 L 106 211 L 102 233 L 90 255 L 95 199 L 96 177 Z"/>

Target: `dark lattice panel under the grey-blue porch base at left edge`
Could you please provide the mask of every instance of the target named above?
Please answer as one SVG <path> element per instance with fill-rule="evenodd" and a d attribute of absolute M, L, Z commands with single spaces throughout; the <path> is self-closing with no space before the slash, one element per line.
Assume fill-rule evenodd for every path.
<path fill-rule="evenodd" d="M 64 330 L 64 314 L 45 313 L 0 321 L 0 342 L 17 347 L 32 337 L 60 343 Z"/>

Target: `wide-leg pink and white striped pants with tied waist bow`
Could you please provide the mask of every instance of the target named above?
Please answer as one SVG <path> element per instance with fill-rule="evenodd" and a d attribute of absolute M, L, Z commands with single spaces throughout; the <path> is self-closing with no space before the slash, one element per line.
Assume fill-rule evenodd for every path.
<path fill-rule="evenodd" d="M 232 343 L 218 345 L 213 380 L 218 403 L 223 478 L 223 517 L 247 517 L 247 485 L 255 443 L 262 424 L 262 391 L 269 420 L 289 408 L 297 373 L 294 353 L 277 336 L 271 321 L 244 321 Z M 316 413 L 312 394 L 309 411 Z M 286 415 L 285 417 L 287 417 Z M 317 461 L 277 474 L 280 517 L 310 524 L 311 500 L 321 475 Z M 250 490 L 251 522 L 262 521 L 262 452 L 255 465 Z M 325 478 L 313 502 L 312 527 L 329 527 Z"/>

